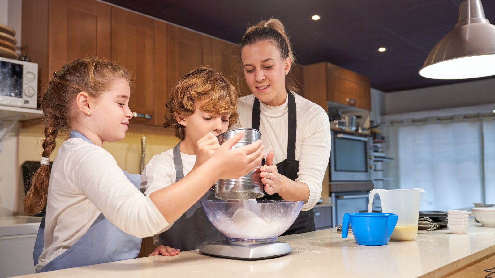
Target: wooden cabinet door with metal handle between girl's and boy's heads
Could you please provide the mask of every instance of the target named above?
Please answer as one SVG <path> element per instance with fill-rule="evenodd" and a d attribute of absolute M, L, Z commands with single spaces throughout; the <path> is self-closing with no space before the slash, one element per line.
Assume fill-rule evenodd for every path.
<path fill-rule="evenodd" d="M 167 24 L 112 7 L 111 33 L 112 60 L 134 76 L 129 108 L 139 116 L 131 123 L 161 126 L 167 99 Z"/>

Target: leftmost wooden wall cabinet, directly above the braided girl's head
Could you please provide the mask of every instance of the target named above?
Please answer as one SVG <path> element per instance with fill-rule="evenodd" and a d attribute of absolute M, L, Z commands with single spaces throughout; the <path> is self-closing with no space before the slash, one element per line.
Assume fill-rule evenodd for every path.
<path fill-rule="evenodd" d="M 111 6 L 97 0 L 22 2 L 22 52 L 39 66 L 39 90 L 77 58 L 110 59 Z M 40 95 L 40 93 L 38 93 Z"/>

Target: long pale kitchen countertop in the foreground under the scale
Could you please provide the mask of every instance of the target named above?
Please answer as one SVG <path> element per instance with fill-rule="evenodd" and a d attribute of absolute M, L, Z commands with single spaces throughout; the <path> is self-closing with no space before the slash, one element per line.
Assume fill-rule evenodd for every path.
<path fill-rule="evenodd" d="M 146 257 L 22 277 L 436 278 L 495 253 L 495 228 L 480 226 L 470 220 L 467 234 L 442 229 L 382 246 L 358 245 L 351 233 L 341 238 L 335 229 L 327 229 L 279 237 L 293 252 L 269 260 L 230 260 L 193 250 L 175 257 Z"/>

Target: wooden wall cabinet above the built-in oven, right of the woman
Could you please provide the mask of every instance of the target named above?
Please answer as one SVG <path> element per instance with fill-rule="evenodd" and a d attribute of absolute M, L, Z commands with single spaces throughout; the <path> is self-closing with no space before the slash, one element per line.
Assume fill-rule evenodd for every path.
<path fill-rule="evenodd" d="M 371 110 L 370 79 L 331 63 L 304 66 L 305 97 L 328 111 L 327 101 Z"/>

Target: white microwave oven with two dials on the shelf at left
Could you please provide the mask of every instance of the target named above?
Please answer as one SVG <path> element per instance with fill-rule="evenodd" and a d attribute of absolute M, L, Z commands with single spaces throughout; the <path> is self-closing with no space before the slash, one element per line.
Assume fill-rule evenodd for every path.
<path fill-rule="evenodd" d="M 37 108 L 37 63 L 0 57 L 0 105 Z"/>

